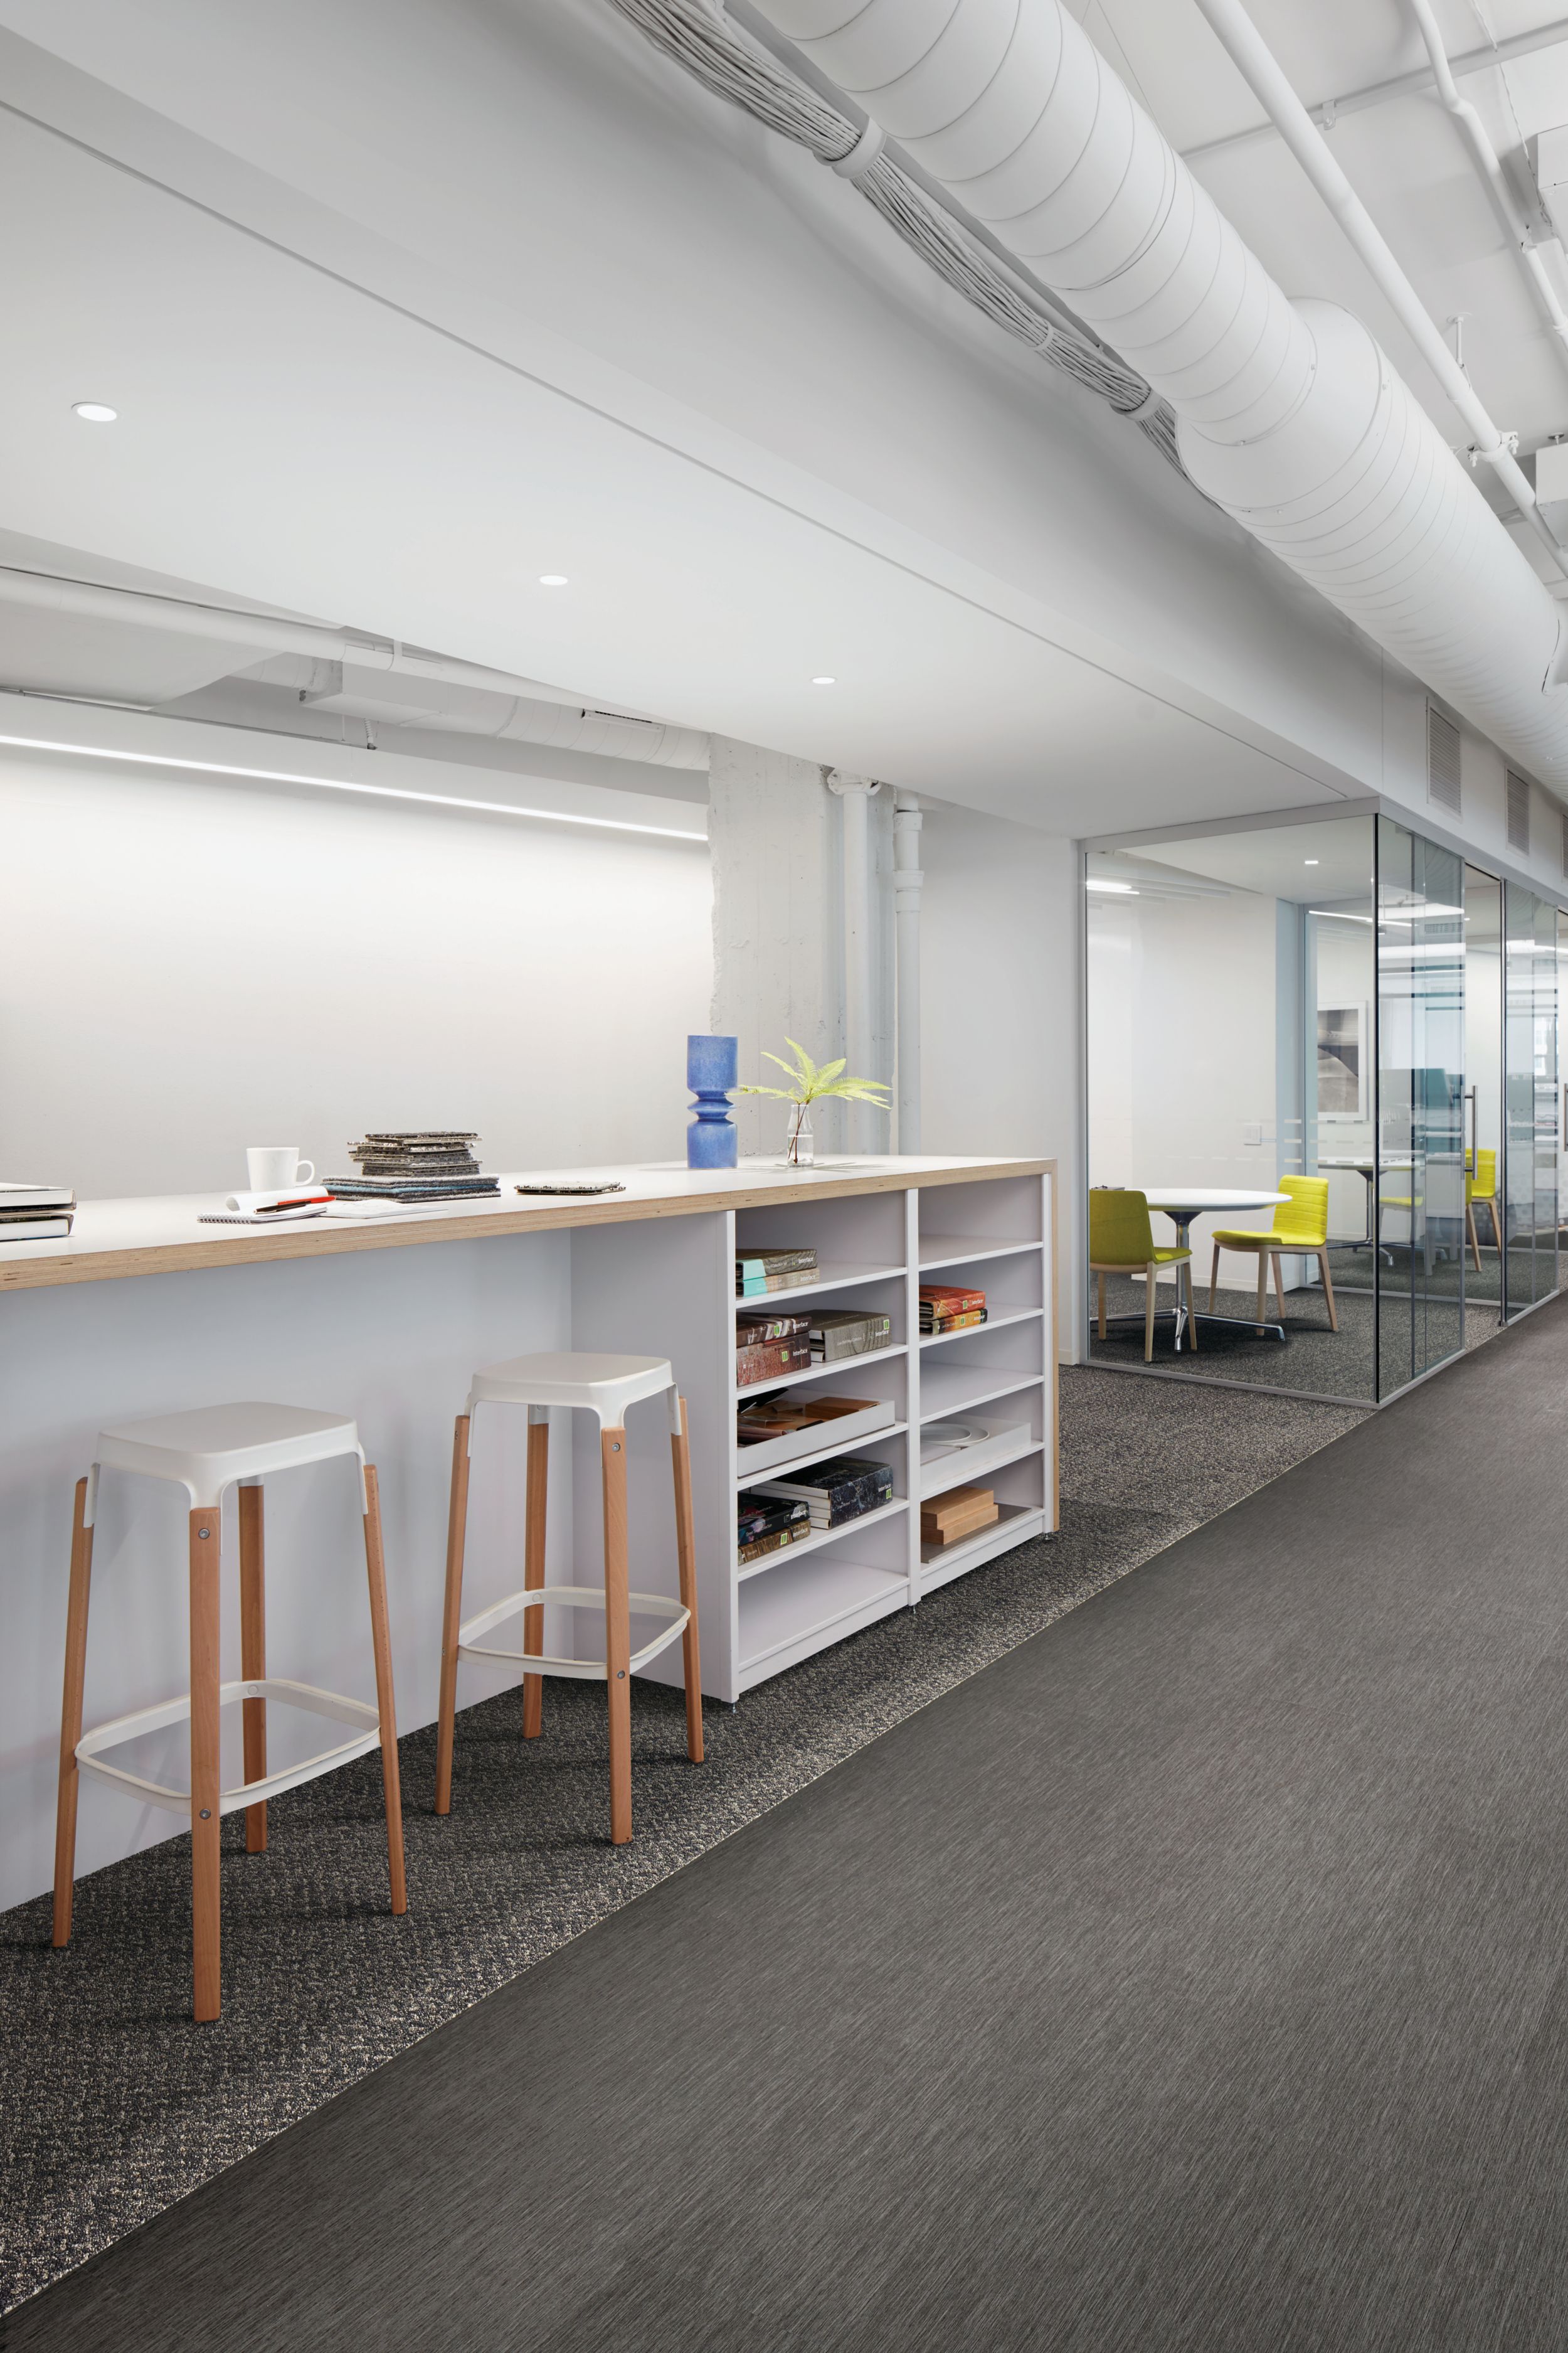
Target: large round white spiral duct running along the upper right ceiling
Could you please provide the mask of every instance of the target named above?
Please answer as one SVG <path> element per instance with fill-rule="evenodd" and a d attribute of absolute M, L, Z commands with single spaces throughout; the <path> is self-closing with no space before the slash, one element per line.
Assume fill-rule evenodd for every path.
<path fill-rule="evenodd" d="M 1568 701 L 1544 692 L 1552 595 L 1366 327 L 1286 299 L 1060 0 L 766 0 L 766 14 L 1171 400 L 1208 496 L 1526 767 L 1568 781 Z M 1533 504 L 1420 325 L 1476 442 Z"/>

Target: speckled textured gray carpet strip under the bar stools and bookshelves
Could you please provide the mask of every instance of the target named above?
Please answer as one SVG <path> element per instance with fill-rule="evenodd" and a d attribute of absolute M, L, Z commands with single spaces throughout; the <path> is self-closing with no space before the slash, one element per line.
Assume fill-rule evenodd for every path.
<path fill-rule="evenodd" d="M 435 1741 L 402 1741 L 409 1913 L 386 1911 L 374 1760 L 273 1800 L 270 1849 L 226 1824 L 223 2019 L 188 2019 L 188 1842 L 0 1920 L 0 2261 L 16 2304 L 310 2115 L 444 2021 L 644 1897 L 719 1840 L 1356 1417 L 1286 1400 L 1063 1374 L 1063 1532 L 748 1694 L 708 1706 L 684 1758 L 677 1694 L 637 1685 L 630 1849 L 607 1845 L 602 1699 L 550 1685 L 458 1720 L 456 1807 L 430 1812 Z"/>

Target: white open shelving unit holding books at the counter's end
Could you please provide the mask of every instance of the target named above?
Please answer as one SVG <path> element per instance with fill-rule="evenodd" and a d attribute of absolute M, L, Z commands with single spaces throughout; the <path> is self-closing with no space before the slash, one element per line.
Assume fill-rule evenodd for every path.
<path fill-rule="evenodd" d="M 733 1297 L 733 1259 L 745 1247 L 818 1252 L 818 1280 L 771 1299 Z M 919 1285 L 971 1282 L 987 1294 L 987 1322 L 919 1337 Z M 842 1365 L 736 1386 L 736 1311 L 795 1306 L 832 1294 L 835 1306 L 889 1315 L 893 1341 Z M 954 1577 L 1030 1537 L 1056 1529 L 1056 1247 L 1053 1176 L 914 1179 L 900 1191 L 837 1200 L 802 1193 L 788 1207 L 717 1212 L 670 1221 L 649 1252 L 646 1228 L 574 1235 L 571 1329 L 576 1346 L 670 1355 L 691 1414 L 698 1522 L 703 1689 L 741 1699 L 769 1675 L 830 1642 L 842 1642 L 893 1609 L 917 1607 Z M 889 1400 L 893 1421 L 865 1438 L 827 1440 L 788 1466 L 748 1468 L 736 1442 L 736 1409 L 748 1395 L 818 1388 Z M 961 1544 L 924 1558 L 919 1539 L 919 1440 L 929 1421 L 987 1407 L 1018 1421 L 1006 1459 L 973 1473 L 992 1487 L 1001 1518 Z M 656 1419 L 656 1417 L 654 1417 Z M 632 1584 L 675 1591 L 663 1421 L 630 1419 Z M 823 1529 L 762 1560 L 736 1562 L 736 1497 L 759 1480 L 832 1454 L 870 1454 L 893 1466 L 893 1501 L 846 1527 Z M 597 1529 L 597 1445 L 576 1447 L 576 1548 Z M 945 1471 L 947 1466 L 943 1466 Z M 969 1485 L 964 1454 L 947 1485 Z M 929 1482 L 940 1494 L 940 1482 Z M 639 1504 L 646 1499 L 646 1508 Z M 646 1562 L 649 1551 L 654 1562 Z M 679 1652 L 649 1668 L 679 1680 Z"/>

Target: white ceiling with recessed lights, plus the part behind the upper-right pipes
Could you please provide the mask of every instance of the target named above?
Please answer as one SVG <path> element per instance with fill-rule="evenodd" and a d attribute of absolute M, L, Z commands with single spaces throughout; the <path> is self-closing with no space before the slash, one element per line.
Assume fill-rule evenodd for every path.
<path fill-rule="evenodd" d="M 607 14 L 576 9 L 574 38 Z M 1081 14 L 1178 144 L 1258 120 L 1190 0 Z M 1462 0 L 1439 14 L 1455 47 L 1486 38 Z M 1549 14 L 1512 0 L 1490 21 L 1514 33 Z M 1258 0 L 1255 16 L 1309 99 L 1420 64 L 1396 0 Z M 804 219 L 797 275 L 759 264 L 741 282 L 701 242 L 712 221 L 679 216 L 670 193 L 691 306 L 668 287 L 639 306 L 646 221 L 581 245 L 604 158 L 578 155 L 574 179 L 567 141 L 555 205 L 534 191 L 520 209 L 501 176 L 515 158 L 498 160 L 498 92 L 524 104 L 536 56 L 564 38 L 552 7 L 386 0 L 357 54 L 348 19 L 284 0 L 216 14 L 143 0 L 134 21 L 120 0 L 0 0 L 0 205 L 28 221 L 0 252 L 12 546 L 437 645 L 1060 833 L 1331 802 L 1375 781 L 1361 758 L 1375 666 L 1349 633 L 1135 435 L 1100 412 L 1084 421 L 1077 393 L 1025 384 L 987 327 L 914 287 L 879 224 L 846 214 L 860 242 L 830 254 L 802 207 L 849 202 L 837 184 L 818 198 L 788 151 L 731 134 L 712 108 L 686 113 L 679 82 L 639 80 L 632 38 L 611 26 L 599 64 L 649 153 L 663 141 L 689 162 L 729 136 L 715 174 L 731 174 L 733 207 Z M 517 92 L 489 68 L 463 78 L 501 52 Z M 569 64 L 581 71 L 576 52 Z M 1568 47 L 1467 87 L 1516 151 L 1523 129 L 1568 120 Z M 397 122 L 395 101 L 409 108 Z M 1467 362 L 1500 421 L 1526 442 L 1568 426 L 1563 365 L 1436 104 L 1345 118 L 1335 144 L 1434 313 L 1467 313 Z M 1448 431 L 1279 144 L 1199 169 L 1291 292 L 1368 318 Z M 759 212 L 748 228 L 759 254 L 766 226 Z M 903 336 L 886 384 L 837 327 L 811 332 L 813 240 L 820 285 L 849 273 L 867 315 L 886 308 L 889 351 Z M 701 351 L 693 315 L 712 336 Z M 113 400 L 120 424 L 82 428 L 78 398 Z M 835 416 L 839 452 L 823 456 L 809 424 Z M 997 504 L 987 442 L 1032 419 L 1039 478 L 1020 473 Z M 1081 466 L 1063 459 L 1072 433 Z M 907 496 L 879 473 L 879 440 L 926 452 Z M 1091 576 L 1095 499 L 1105 562 Z M 543 569 L 569 572 L 571 591 L 543 591 Z M 233 666 L 216 659 L 155 633 L 61 645 L 0 609 L 0 682 L 165 699 Z M 1265 696 L 1253 680 L 1269 659 Z M 839 682 L 811 687 L 820 671 Z"/>

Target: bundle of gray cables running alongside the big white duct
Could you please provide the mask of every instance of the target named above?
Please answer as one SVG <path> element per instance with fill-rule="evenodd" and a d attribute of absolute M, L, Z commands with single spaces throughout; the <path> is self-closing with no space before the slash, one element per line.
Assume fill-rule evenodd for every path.
<path fill-rule="evenodd" d="M 877 207 L 905 245 L 964 301 L 1027 344 L 1051 367 L 1074 376 L 1119 416 L 1131 416 L 1159 454 L 1182 471 L 1171 409 L 1114 351 L 1070 320 L 1044 294 L 1032 296 L 884 151 L 882 134 L 860 132 L 809 82 L 724 14 L 722 0 L 609 0 L 665 56 L 715 96 L 745 108 L 783 139 L 837 167 Z"/>

